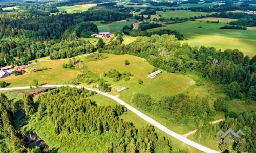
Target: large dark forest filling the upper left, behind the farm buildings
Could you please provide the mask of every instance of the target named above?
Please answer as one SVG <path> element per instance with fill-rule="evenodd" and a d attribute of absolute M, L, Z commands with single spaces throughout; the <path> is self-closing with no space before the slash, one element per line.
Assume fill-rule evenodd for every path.
<path fill-rule="evenodd" d="M 98 32 L 89 21 L 123 20 L 132 16 L 129 10 L 97 6 L 83 13 L 51 16 L 35 8 L 0 13 L 0 66 L 24 64 L 49 55 L 59 59 L 94 52 L 89 41 L 77 39 Z"/>

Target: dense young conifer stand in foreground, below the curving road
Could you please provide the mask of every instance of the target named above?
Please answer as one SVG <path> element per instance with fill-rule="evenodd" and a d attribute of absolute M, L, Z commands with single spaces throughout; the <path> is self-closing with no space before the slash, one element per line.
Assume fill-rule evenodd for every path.
<path fill-rule="evenodd" d="M 126 108 L 120 105 L 97 106 L 97 102 L 88 99 L 94 94 L 96 92 L 86 89 L 61 87 L 40 95 L 36 100 L 38 111 L 32 118 L 31 127 L 39 135 L 47 134 L 43 137 L 52 146 L 57 146 L 59 151 L 172 150 L 170 140 L 157 135 L 153 126 L 136 129 L 132 123 L 119 119 L 127 111 Z M 45 124 L 44 129 L 37 124 Z"/>

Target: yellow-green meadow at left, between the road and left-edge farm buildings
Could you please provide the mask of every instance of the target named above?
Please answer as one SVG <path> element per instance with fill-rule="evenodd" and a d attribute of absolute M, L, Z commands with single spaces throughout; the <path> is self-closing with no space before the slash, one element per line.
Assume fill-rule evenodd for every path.
<path fill-rule="evenodd" d="M 32 85 L 34 79 L 37 79 L 39 84 L 61 84 L 65 81 L 76 78 L 80 73 L 80 70 L 69 70 L 62 67 L 63 63 L 67 63 L 68 60 L 54 60 L 47 62 L 38 62 L 36 64 L 29 65 L 24 70 L 23 75 L 3 78 L 1 80 L 10 83 L 8 87 L 19 87 Z M 44 71 L 31 72 L 31 69 L 35 68 L 51 68 Z"/>

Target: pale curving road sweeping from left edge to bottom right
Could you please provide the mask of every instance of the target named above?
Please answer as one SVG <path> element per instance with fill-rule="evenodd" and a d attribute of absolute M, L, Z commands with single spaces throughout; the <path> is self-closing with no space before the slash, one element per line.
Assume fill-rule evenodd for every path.
<path fill-rule="evenodd" d="M 82 86 L 75 86 L 75 85 L 43 85 L 43 86 L 40 86 L 40 87 L 62 87 L 62 86 L 70 86 L 70 87 L 82 88 Z M 3 90 L 17 90 L 17 89 L 29 89 L 29 88 L 30 88 L 30 86 L 13 87 L 13 88 L 0 88 L 0 91 L 3 91 Z M 191 141 L 191 140 L 185 138 L 184 136 L 182 136 L 182 135 L 180 135 L 180 134 L 178 134 L 176 132 L 173 132 L 172 130 L 169 130 L 167 127 L 163 126 L 162 124 L 158 123 L 154 119 L 152 119 L 152 118 L 148 117 L 147 115 L 143 114 L 142 112 L 138 111 L 137 109 L 135 109 L 131 105 L 125 103 L 123 100 L 119 99 L 116 96 L 110 95 L 108 93 L 105 93 L 105 92 L 102 92 L 102 91 L 99 91 L 99 90 L 96 90 L 96 89 L 88 88 L 88 87 L 83 87 L 83 88 L 86 88 L 87 90 L 96 91 L 97 93 L 99 93 L 99 94 L 101 94 L 103 96 L 109 97 L 109 98 L 117 101 L 117 103 L 125 106 L 127 109 L 129 109 L 130 111 L 134 112 L 136 115 L 138 115 L 139 117 L 141 117 L 142 119 L 144 119 L 148 123 L 152 124 L 153 126 L 157 127 L 158 129 L 162 130 L 163 132 L 167 133 L 168 135 L 178 139 L 181 142 L 186 143 L 187 145 L 189 145 L 191 147 L 194 147 L 194 148 L 196 148 L 196 149 L 198 149 L 200 151 L 207 152 L 207 153 L 218 152 L 216 150 L 212 150 L 212 149 L 207 148 L 207 147 L 205 147 L 203 145 L 200 145 L 200 144 L 198 144 L 198 143 L 196 143 L 194 141 Z"/>

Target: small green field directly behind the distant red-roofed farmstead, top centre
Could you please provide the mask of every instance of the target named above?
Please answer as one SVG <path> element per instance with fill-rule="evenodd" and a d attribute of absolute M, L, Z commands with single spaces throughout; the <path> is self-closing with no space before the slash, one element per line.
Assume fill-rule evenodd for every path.
<path fill-rule="evenodd" d="M 99 32 L 110 32 L 114 33 L 115 31 L 122 31 L 124 25 L 128 25 L 130 27 L 131 24 L 135 23 L 135 21 L 117 21 L 112 22 L 110 24 L 100 24 L 98 25 Z"/>

